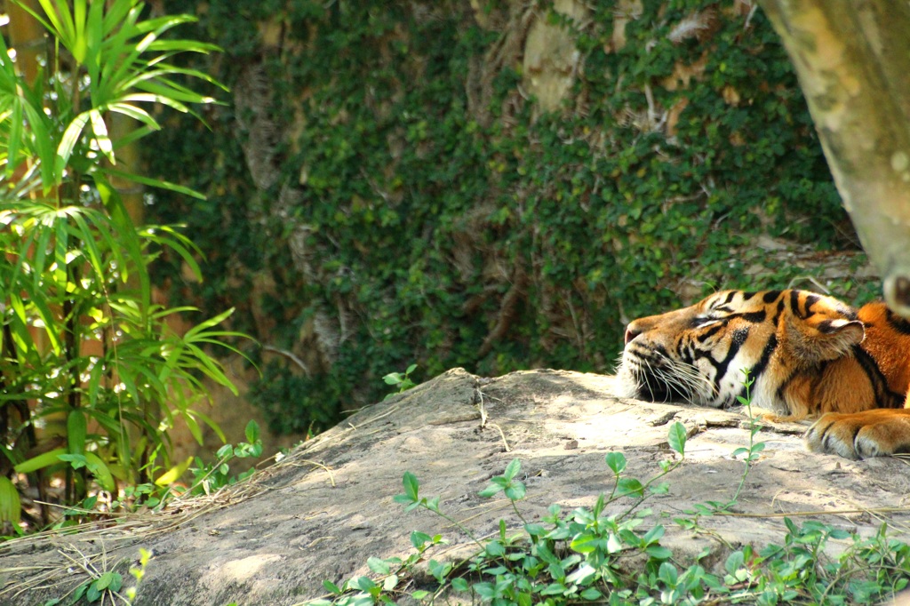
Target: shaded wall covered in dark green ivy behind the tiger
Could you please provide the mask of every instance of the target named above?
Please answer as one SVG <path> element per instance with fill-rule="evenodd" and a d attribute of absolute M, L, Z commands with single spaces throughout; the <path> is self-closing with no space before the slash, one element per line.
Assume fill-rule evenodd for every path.
<path fill-rule="evenodd" d="M 240 308 L 274 429 L 325 428 L 411 362 L 417 379 L 610 371 L 630 319 L 805 273 L 760 235 L 853 246 L 784 50 L 748 2 L 575 18 L 519 0 L 164 5 L 224 47 L 197 66 L 231 93 L 210 132 L 182 121 L 147 147 L 154 171 L 208 196 L 151 198 L 208 261 L 203 284 L 159 276 L 175 298 Z M 528 73 L 548 58 L 529 41 L 554 38 L 529 35 L 540 25 L 574 43 L 551 62 L 568 91 L 555 104 Z"/>

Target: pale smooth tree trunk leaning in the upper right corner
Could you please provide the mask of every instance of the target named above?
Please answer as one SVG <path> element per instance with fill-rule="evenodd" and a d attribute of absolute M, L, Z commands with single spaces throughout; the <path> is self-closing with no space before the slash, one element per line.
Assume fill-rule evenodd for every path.
<path fill-rule="evenodd" d="M 910 317 L 910 3 L 759 0 L 793 60 L 834 182 Z"/>

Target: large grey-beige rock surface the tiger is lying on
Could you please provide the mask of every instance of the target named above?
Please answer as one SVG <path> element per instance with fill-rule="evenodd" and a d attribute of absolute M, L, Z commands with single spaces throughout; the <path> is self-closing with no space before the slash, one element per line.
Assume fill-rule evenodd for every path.
<path fill-rule="evenodd" d="M 410 554 L 410 532 L 441 533 L 450 554 L 467 539 L 423 510 L 403 513 L 392 501 L 410 470 L 420 493 L 477 535 L 504 519 L 519 522 L 504 499 L 477 493 L 513 458 L 521 460 L 528 497 L 520 507 L 538 519 L 553 502 L 590 506 L 612 488 L 604 455 L 622 450 L 628 473 L 652 477 L 670 459 L 667 431 L 689 432 L 682 466 L 655 496 L 650 523 L 667 526 L 663 544 L 677 559 L 703 550 L 710 566 L 729 545 L 780 542 L 781 514 L 863 533 L 881 523 L 876 510 L 906 521 L 910 493 L 904 460 L 851 461 L 804 450 L 795 424 L 765 427 L 766 448 L 748 475 L 739 515 L 703 517 L 711 534 L 693 536 L 672 517 L 694 503 L 729 500 L 743 473 L 734 449 L 748 445 L 741 411 L 696 409 L 617 399 L 613 378 L 533 370 L 479 379 L 450 370 L 415 389 L 360 410 L 305 443 L 285 460 L 231 490 L 177 502 L 164 512 L 137 514 L 81 534 L 52 534 L 0 545 L 0 603 L 35 604 L 62 597 L 86 580 L 86 568 L 113 566 L 126 575 L 139 548 L 152 550 L 136 603 L 154 606 L 295 604 L 324 593 L 324 579 L 369 574 L 369 556 Z M 669 517 L 661 517 L 665 511 Z M 713 536 L 712 536 L 713 535 Z M 445 554 L 434 552 L 433 557 Z M 128 581 L 127 581 L 128 584 Z"/>

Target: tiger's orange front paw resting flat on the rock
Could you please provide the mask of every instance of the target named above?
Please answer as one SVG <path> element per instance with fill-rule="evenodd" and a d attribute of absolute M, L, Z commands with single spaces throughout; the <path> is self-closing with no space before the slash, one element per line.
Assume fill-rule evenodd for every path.
<path fill-rule="evenodd" d="M 910 409 L 874 409 L 850 414 L 829 412 L 805 433 L 814 452 L 847 459 L 910 452 Z"/>

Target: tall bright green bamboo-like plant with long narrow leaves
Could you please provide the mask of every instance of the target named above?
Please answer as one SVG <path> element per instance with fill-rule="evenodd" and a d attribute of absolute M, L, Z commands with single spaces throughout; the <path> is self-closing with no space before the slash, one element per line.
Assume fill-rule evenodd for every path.
<path fill-rule="evenodd" d="M 16 4 L 49 36 L 35 82 L 0 36 L 0 522 L 19 515 L 14 474 L 40 489 L 62 473 L 73 503 L 92 481 L 113 491 L 152 477 L 156 457 L 167 469 L 177 418 L 199 441 L 199 421 L 220 435 L 193 406 L 205 378 L 234 389 L 206 348 L 237 351 L 224 339 L 240 336 L 217 328 L 230 311 L 182 336 L 167 328 L 192 309 L 153 304 L 147 266 L 168 250 L 198 275 L 198 251 L 172 227 L 137 226 L 111 185 L 201 197 L 123 166 L 117 151 L 160 128 L 151 107 L 215 102 L 187 86 L 215 80 L 172 60 L 217 47 L 165 38 L 194 18 L 147 18 L 138 0 Z M 115 115 L 135 127 L 112 135 Z M 35 427 L 54 423 L 56 443 L 37 443 Z"/>

